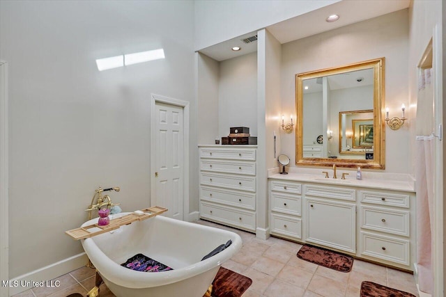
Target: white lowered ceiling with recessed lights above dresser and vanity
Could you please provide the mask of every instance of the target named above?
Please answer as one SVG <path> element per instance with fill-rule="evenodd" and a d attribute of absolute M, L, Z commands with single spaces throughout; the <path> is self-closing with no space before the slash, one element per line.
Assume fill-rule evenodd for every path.
<path fill-rule="evenodd" d="M 344 0 L 267 26 L 266 29 L 280 43 L 286 43 L 387 13 L 393 13 L 394 11 L 408 8 L 409 5 L 410 0 Z M 337 22 L 325 22 L 325 19 L 333 14 L 339 15 Z M 252 35 L 256 35 L 256 32 L 247 33 L 199 51 L 216 61 L 224 61 L 229 58 L 235 58 L 236 56 L 249 54 L 257 51 L 257 42 L 254 41 L 245 44 L 241 40 Z M 236 46 L 242 47 L 242 50 L 232 51 L 231 48 Z"/>

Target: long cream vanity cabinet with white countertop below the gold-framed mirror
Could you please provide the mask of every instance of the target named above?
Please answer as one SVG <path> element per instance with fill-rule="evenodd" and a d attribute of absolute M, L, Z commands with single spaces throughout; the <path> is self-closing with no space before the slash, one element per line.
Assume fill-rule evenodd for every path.
<path fill-rule="evenodd" d="M 410 182 L 290 173 L 270 175 L 268 188 L 271 235 L 414 270 L 415 190 Z"/>

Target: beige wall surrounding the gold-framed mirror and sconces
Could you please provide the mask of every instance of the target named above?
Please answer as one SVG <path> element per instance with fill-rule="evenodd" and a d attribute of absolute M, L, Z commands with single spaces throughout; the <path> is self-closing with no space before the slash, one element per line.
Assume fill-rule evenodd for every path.
<path fill-rule="evenodd" d="M 282 107 L 295 110 L 295 74 L 372 58 L 385 57 L 385 105 L 400 115 L 408 106 L 408 10 L 288 42 L 282 45 Z M 408 126 L 386 128 L 386 172 L 410 172 Z M 284 139 L 282 150 L 295 164 L 295 140 Z"/>

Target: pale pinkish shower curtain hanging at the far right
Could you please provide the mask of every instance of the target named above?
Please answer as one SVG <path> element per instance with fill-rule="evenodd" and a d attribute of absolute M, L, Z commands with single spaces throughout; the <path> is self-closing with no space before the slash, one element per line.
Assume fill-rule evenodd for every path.
<path fill-rule="evenodd" d="M 433 293 L 432 227 L 434 186 L 433 90 L 431 69 L 420 70 L 417 98 L 415 179 L 417 181 L 417 269 L 420 291 Z"/>

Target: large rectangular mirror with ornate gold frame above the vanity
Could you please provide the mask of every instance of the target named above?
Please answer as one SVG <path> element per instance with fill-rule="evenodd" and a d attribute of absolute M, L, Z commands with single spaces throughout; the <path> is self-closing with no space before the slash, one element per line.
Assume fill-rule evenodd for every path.
<path fill-rule="evenodd" d="M 384 61 L 296 74 L 296 165 L 385 168 Z"/>

